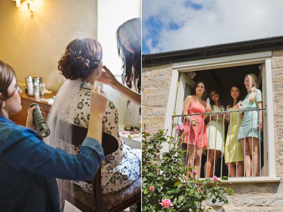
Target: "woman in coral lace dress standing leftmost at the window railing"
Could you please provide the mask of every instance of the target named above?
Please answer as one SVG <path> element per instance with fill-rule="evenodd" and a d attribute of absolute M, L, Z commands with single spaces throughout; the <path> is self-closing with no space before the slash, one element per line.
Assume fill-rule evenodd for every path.
<path fill-rule="evenodd" d="M 206 105 L 206 102 L 201 99 L 205 92 L 205 85 L 203 81 L 198 81 L 192 88 L 192 96 L 187 96 L 184 102 L 183 114 L 198 114 L 210 112 L 211 108 Z M 207 118 L 207 114 L 204 119 Z M 205 124 L 203 122 L 203 115 L 185 116 L 185 137 L 183 144 L 187 144 L 189 150 L 187 165 L 195 167 L 195 171 L 199 175 L 200 170 L 200 156 L 203 152 L 203 147 L 208 146 L 208 138 L 206 134 Z M 188 174 L 190 171 L 188 170 Z"/>

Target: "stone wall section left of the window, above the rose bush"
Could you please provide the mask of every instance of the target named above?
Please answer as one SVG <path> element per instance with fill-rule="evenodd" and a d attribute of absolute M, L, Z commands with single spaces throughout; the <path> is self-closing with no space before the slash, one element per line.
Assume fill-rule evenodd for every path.
<path fill-rule="evenodd" d="M 172 76 L 172 63 L 142 69 L 142 124 L 150 132 L 164 128 Z"/>

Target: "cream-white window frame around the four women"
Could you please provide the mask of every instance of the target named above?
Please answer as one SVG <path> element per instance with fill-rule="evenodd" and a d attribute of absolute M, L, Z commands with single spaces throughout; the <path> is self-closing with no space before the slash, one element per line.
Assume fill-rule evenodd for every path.
<path fill-rule="evenodd" d="M 231 66 L 250 65 L 257 63 L 265 63 L 265 94 L 263 98 L 266 98 L 266 124 L 267 125 L 267 152 L 268 152 L 268 177 L 243 177 L 243 178 L 229 178 L 228 182 L 243 183 L 243 182 L 279 182 L 280 178 L 276 176 L 275 167 L 275 146 L 274 146 L 274 122 L 273 122 L 273 92 L 272 92 L 272 70 L 271 70 L 271 57 L 272 51 L 254 52 L 240 55 L 230 55 L 223 57 L 213 57 L 200 60 L 191 60 L 178 63 L 172 63 L 172 78 L 170 84 L 170 92 L 167 104 L 167 111 L 165 115 L 164 129 L 172 131 L 172 115 L 175 107 L 178 107 L 176 103 L 177 96 L 177 83 L 179 73 L 208 70 L 215 68 L 225 68 Z M 263 79 L 264 80 L 264 79 Z M 265 97 L 264 97 L 265 96 Z M 172 100 L 175 100 L 172 103 Z M 265 105 L 263 105 L 265 107 Z M 177 114 L 178 115 L 178 114 Z M 170 146 L 166 145 L 163 147 L 164 151 L 169 151 Z M 227 181 L 225 181 L 227 182 Z"/>

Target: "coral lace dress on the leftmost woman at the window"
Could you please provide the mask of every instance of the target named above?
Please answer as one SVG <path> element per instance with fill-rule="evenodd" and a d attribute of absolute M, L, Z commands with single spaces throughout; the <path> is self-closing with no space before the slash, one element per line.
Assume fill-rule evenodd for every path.
<path fill-rule="evenodd" d="M 205 101 L 203 101 L 203 105 L 200 105 L 196 103 L 193 99 L 190 104 L 189 108 L 189 114 L 197 114 L 197 113 L 205 113 Z M 198 117 L 198 120 L 197 120 Z M 206 134 L 206 127 L 203 122 L 203 115 L 198 115 L 198 116 L 191 116 L 191 118 L 195 121 L 198 122 L 196 126 L 192 126 L 190 124 L 190 121 L 186 119 L 185 121 L 185 132 L 184 134 L 186 135 L 184 137 L 183 143 L 187 144 L 192 144 L 197 146 L 197 148 L 200 147 L 207 147 L 208 146 L 208 138 Z M 190 136 L 189 136 L 190 134 Z"/>

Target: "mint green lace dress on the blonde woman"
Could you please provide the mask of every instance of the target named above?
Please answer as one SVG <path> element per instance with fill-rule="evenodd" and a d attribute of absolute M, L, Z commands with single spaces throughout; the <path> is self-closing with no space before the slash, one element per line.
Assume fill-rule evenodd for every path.
<path fill-rule="evenodd" d="M 262 94 L 259 89 L 254 91 L 255 100 L 253 102 L 249 102 L 249 97 L 251 93 L 249 93 L 243 101 L 243 110 L 245 109 L 257 109 L 257 102 L 262 101 Z M 240 126 L 240 130 L 238 133 L 238 142 L 241 142 L 241 138 L 246 137 L 254 137 L 259 138 L 259 131 L 256 130 L 256 127 L 259 123 L 259 111 L 246 111 L 246 114 L 243 114 L 243 120 Z M 244 127 L 246 126 L 246 129 Z M 260 136 L 262 140 L 262 135 Z"/>

